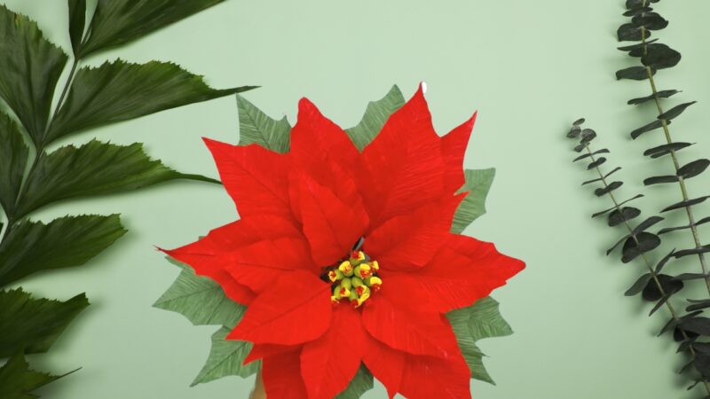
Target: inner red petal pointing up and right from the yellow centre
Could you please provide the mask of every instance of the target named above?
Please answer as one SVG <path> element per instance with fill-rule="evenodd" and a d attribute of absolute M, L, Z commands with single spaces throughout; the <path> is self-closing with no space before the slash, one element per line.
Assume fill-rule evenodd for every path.
<path fill-rule="evenodd" d="M 363 248 L 384 270 L 416 270 L 430 262 L 451 235 L 454 210 L 465 194 L 392 217 L 367 235 Z"/>

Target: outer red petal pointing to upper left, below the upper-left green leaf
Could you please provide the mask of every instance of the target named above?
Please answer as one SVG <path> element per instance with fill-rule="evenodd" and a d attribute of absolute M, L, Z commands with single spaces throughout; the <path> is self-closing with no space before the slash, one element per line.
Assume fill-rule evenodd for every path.
<path fill-rule="evenodd" d="M 241 217 L 291 217 L 287 155 L 273 153 L 260 145 L 228 145 L 209 138 L 204 141 Z"/>

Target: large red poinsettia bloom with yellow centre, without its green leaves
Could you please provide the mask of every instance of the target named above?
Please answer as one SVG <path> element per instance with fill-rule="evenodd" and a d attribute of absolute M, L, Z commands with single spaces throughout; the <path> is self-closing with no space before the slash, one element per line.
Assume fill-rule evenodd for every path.
<path fill-rule="evenodd" d="M 362 153 L 305 98 L 288 153 L 205 140 L 241 219 L 166 252 L 248 306 L 227 339 L 269 398 L 332 398 L 363 363 L 390 397 L 470 397 L 444 315 L 524 268 L 450 232 L 475 119 L 438 137 L 420 87 Z"/>

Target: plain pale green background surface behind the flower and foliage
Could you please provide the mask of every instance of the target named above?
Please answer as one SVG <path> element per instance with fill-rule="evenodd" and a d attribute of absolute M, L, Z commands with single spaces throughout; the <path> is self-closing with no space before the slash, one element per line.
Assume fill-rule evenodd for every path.
<path fill-rule="evenodd" d="M 146 0 L 148 1 L 148 0 Z M 481 343 L 498 386 L 473 382 L 484 399 L 668 399 L 690 398 L 675 376 L 675 345 L 654 333 L 664 320 L 649 319 L 648 305 L 622 296 L 638 264 L 621 267 L 602 252 L 616 239 L 588 215 L 602 207 L 580 181 L 591 178 L 572 165 L 567 124 L 580 115 L 611 146 L 612 165 L 622 164 L 627 196 L 640 181 L 666 174 L 668 160 L 648 162 L 641 152 L 659 145 L 649 134 L 632 143 L 627 132 L 651 121 L 651 109 L 626 106 L 648 94 L 645 82 L 615 82 L 613 72 L 631 61 L 616 51 L 623 0 L 230 0 L 127 48 L 91 59 L 172 60 L 205 74 L 210 84 L 258 84 L 247 93 L 274 116 L 295 120 L 298 98 L 307 96 L 323 113 L 349 127 L 367 101 L 397 83 L 408 98 L 426 81 L 427 98 L 440 133 L 479 111 L 467 168 L 498 168 L 489 213 L 467 233 L 493 240 L 527 269 L 495 293 L 516 334 Z M 67 6 L 60 0 L 10 0 L 12 9 L 37 20 L 52 41 L 68 51 Z M 682 159 L 708 153 L 710 81 L 706 20 L 710 2 L 664 1 L 671 21 L 661 33 L 682 51 L 683 61 L 659 74 L 660 89 L 682 89 L 679 100 L 696 99 L 672 126 L 676 137 L 700 141 Z M 0 55 L 2 56 L 2 55 Z M 705 72 L 704 72 L 705 71 Z M 76 137 L 146 143 L 149 153 L 183 171 L 216 176 L 200 137 L 236 142 L 233 98 L 130 121 Z M 710 174 L 691 182 L 707 194 Z M 705 192 L 703 191 L 705 186 Z M 675 187 L 652 188 L 647 194 Z M 647 215 L 665 202 L 641 201 Z M 710 209 L 705 207 L 706 212 Z M 44 210 L 48 219 L 66 213 L 120 212 L 130 234 L 90 265 L 45 273 L 22 284 L 66 299 L 86 291 L 93 302 L 52 348 L 33 356 L 56 372 L 83 370 L 51 385 L 55 399 L 243 398 L 252 379 L 221 379 L 188 387 L 209 351 L 217 327 L 193 327 L 185 318 L 153 309 L 177 269 L 154 245 L 178 246 L 235 217 L 231 200 L 215 185 L 164 184 L 143 192 L 75 201 Z M 678 223 L 681 215 L 676 215 Z M 710 228 L 702 229 L 710 240 Z M 682 235 L 682 245 L 689 239 Z M 690 260 L 690 266 L 695 266 Z M 677 266 L 676 266 L 677 267 Z M 661 311 L 663 313 L 663 311 Z M 665 314 L 664 316 L 665 317 Z M 383 397 L 375 387 L 366 398 Z M 696 392 L 699 395 L 699 392 Z M 694 397 L 698 397 L 695 395 Z"/>

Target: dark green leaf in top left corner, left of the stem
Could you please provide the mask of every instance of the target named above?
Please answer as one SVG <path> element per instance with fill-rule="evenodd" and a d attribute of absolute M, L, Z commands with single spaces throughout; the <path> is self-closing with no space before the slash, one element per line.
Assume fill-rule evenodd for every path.
<path fill-rule="evenodd" d="M 37 24 L 0 4 L 0 97 L 30 137 L 42 141 L 51 99 L 67 54 L 48 42 Z"/>

